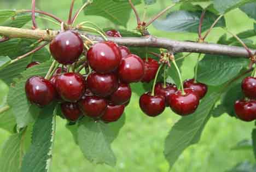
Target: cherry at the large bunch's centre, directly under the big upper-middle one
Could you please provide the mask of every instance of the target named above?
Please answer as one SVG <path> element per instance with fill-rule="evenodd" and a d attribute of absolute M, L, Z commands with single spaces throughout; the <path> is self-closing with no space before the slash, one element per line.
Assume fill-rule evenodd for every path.
<path fill-rule="evenodd" d="M 99 74 L 96 72 L 88 75 L 86 80 L 89 90 L 100 97 L 110 96 L 118 88 L 118 79 L 114 74 Z"/>

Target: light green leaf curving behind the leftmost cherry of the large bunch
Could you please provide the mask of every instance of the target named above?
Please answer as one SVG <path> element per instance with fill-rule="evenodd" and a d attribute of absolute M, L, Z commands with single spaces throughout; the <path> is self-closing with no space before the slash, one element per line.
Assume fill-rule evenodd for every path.
<path fill-rule="evenodd" d="M 27 126 L 28 123 L 33 122 L 34 118 L 39 113 L 39 108 L 36 105 L 32 105 L 26 97 L 24 86 L 28 78 L 34 75 L 44 76 L 51 62 L 45 62 L 40 65 L 28 68 L 25 72 L 22 72 L 22 78 L 20 78 L 15 85 L 10 86 L 8 104 L 13 109 L 18 128 Z"/>

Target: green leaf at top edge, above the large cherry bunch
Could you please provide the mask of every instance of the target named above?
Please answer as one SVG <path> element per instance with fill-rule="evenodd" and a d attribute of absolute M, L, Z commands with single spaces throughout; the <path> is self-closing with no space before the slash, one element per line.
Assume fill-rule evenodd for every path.
<path fill-rule="evenodd" d="M 86 2 L 86 0 L 83 0 Z M 133 2 L 135 5 L 140 4 L 141 1 Z M 128 1 L 114 1 L 114 0 L 94 0 L 88 8 L 84 10 L 85 15 L 102 16 L 116 25 L 126 27 L 131 15 L 131 5 Z"/>

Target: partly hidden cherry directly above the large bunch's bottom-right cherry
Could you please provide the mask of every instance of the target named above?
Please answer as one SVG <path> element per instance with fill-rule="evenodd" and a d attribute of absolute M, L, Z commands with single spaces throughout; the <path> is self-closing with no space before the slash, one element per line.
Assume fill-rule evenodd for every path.
<path fill-rule="evenodd" d="M 109 97 L 111 103 L 115 105 L 126 104 L 131 99 L 131 87 L 129 84 L 120 83 L 117 91 Z"/>

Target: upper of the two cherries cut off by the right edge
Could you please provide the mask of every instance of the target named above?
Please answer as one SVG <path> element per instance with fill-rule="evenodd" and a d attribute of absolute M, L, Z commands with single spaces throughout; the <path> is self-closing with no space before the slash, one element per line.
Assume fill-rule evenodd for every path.
<path fill-rule="evenodd" d="M 242 91 L 246 97 L 256 99 L 256 78 L 248 76 L 243 79 Z"/>

